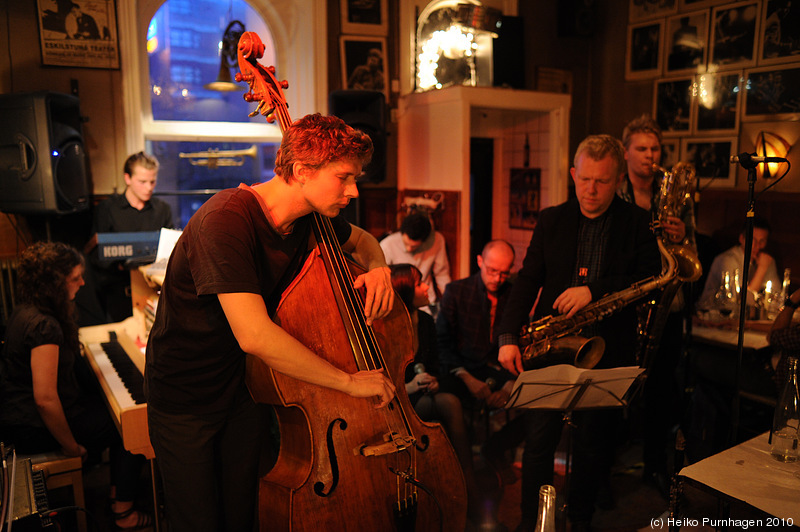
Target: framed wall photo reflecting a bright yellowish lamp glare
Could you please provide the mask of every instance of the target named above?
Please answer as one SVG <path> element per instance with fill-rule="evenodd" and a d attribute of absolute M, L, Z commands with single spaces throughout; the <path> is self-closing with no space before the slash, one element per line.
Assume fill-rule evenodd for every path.
<path fill-rule="evenodd" d="M 742 72 L 709 72 L 696 79 L 695 133 L 735 135 L 739 129 Z"/>

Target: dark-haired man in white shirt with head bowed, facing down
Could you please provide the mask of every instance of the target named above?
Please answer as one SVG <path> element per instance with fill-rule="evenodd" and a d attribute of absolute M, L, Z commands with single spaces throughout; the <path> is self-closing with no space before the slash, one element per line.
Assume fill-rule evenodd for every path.
<path fill-rule="evenodd" d="M 439 294 L 450 282 L 450 263 L 444 236 L 433 231 L 431 221 L 426 214 L 414 212 L 403 219 L 400 230 L 383 240 L 381 248 L 386 263 L 413 264 L 422 273 L 422 282 L 428 285 L 428 303 L 424 310 L 436 316 Z"/>

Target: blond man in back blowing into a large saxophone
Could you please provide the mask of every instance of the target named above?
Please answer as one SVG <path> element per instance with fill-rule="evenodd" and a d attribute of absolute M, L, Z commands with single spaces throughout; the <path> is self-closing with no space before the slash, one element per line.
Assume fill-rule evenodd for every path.
<path fill-rule="evenodd" d="M 630 121 L 622 132 L 625 161 L 628 172 L 617 194 L 629 203 L 650 212 L 660 225 L 665 244 L 683 246 L 695 257 L 694 201 L 691 197 L 661 212 L 660 205 L 669 203 L 662 198 L 664 171 L 656 171 L 661 164 L 661 128 L 649 115 Z M 678 179 L 677 171 L 670 176 Z M 667 191 L 668 192 L 668 191 Z M 699 275 L 699 272 L 698 272 Z M 684 320 L 688 318 L 688 298 L 679 286 L 667 288 L 660 294 L 660 304 L 651 310 L 647 323 L 652 345 L 643 346 L 642 358 L 647 362 L 647 380 L 643 389 L 643 461 L 644 480 L 655 487 L 665 499 L 669 494 L 667 474 L 667 442 L 670 429 L 679 419 L 675 406 L 679 404 L 678 382 L 675 377 L 682 352 Z M 653 329 L 659 329 L 656 332 Z M 652 352 L 652 355 L 650 354 Z M 644 361 L 642 361 L 644 363 Z"/>

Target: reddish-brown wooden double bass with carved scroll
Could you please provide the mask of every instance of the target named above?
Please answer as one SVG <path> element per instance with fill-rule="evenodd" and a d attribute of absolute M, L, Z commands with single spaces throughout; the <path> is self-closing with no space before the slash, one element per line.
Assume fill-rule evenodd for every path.
<path fill-rule="evenodd" d="M 258 63 L 263 52 L 258 35 L 242 34 L 236 80 L 249 85 L 245 100 L 258 102 L 251 116 L 277 119 L 285 131 L 288 83 Z M 313 216 L 315 242 L 273 319 L 345 372 L 382 369 L 398 393 L 375 409 L 248 355 L 248 389 L 256 401 L 274 406 L 280 429 L 275 465 L 259 480 L 260 529 L 463 531 L 461 466 L 441 425 L 421 421 L 405 393 L 404 369 L 413 359 L 408 311 L 396 298 L 385 318 L 367 325 L 353 288 L 364 270 L 344 256 L 330 219 Z"/>

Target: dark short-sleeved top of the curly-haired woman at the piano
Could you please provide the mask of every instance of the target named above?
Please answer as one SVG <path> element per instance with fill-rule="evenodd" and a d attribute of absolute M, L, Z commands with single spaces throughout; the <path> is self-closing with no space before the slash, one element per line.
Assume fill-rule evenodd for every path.
<path fill-rule="evenodd" d="M 75 377 L 79 356 L 65 346 L 64 332 L 53 316 L 33 305 L 17 305 L 8 321 L 8 333 L 0 356 L 0 424 L 44 427 L 33 399 L 31 350 L 57 345 L 58 398 L 67 417 L 81 395 Z"/>

